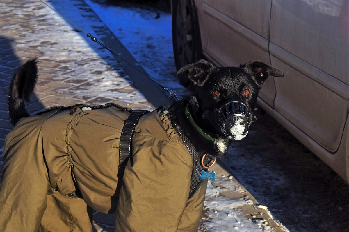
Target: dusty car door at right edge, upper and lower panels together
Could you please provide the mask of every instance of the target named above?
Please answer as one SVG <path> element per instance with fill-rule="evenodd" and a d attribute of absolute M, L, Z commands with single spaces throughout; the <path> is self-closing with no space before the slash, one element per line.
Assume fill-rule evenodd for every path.
<path fill-rule="evenodd" d="M 272 65 L 286 77 L 275 78 L 275 109 L 331 152 L 349 109 L 348 49 L 334 34 L 335 3 L 343 1 L 273 1 L 269 45 Z"/>

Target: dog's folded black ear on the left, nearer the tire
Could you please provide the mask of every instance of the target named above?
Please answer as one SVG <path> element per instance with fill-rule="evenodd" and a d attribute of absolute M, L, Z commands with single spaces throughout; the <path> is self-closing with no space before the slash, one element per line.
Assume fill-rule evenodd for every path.
<path fill-rule="evenodd" d="M 206 61 L 205 59 L 200 59 L 200 61 L 196 63 L 187 64 L 181 67 L 176 74 L 174 74 L 174 77 L 185 73 L 194 85 L 201 87 L 205 84 L 209 74 L 216 68 L 217 66 L 211 62 Z"/>

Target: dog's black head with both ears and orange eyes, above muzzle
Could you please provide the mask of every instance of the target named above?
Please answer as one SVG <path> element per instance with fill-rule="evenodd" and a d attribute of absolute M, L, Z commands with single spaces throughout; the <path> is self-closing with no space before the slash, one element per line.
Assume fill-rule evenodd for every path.
<path fill-rule="evenodd" d="M 193 85 L 198 87 L 195 95 L 196 107 L 195 104 L 192 107 L 192 113 L 197 115 L 206 111 L 214 112 L 231 99 L 245 103 L 253 112 L 258 92 L 265 81 L 270 76 L 284 75 L 280 69 L 259 61 L 251 61 L 240 67 L 218 67 L 203 59 L 183 66 L 175 77 L 184 73 L 188 75 Z M 223 130 L 218 132 L 226 135 Z M 230 137 L 241 138 L 241 136 Z"/>

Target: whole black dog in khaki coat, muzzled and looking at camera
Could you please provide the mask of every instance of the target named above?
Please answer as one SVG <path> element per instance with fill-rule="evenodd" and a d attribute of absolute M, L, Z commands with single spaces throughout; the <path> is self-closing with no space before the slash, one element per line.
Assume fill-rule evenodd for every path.
<path fill-rule="evenodd" d="M 37 66 L 35 60 L 25 63 L 9 90 L 15 128 L 5 141 L 0 230 L 88 231 L 92 207 L 116 213 L 116 231 L 197 231 L 207 179 L 202 185 L 196 182 L 192 191 L 198 161 L 183 138 L 202 155 L 201 163 L 205 153 L 213 159 L 224 155 L 232 140 L 247 135 L 263 83 L 283 72 L 257 61 L 218 67 L 200 60 L 175 76 L 182 74 L 197 93 L 141 117 L 134 128 L 131 161 L 120 176 L 117 152 L 129 111 L 115 104 L 78 105 L 28 117 L 23 98 L 28 101 L 34 90 Z M 75 192 L 83 201 L 66 197 Z"/>

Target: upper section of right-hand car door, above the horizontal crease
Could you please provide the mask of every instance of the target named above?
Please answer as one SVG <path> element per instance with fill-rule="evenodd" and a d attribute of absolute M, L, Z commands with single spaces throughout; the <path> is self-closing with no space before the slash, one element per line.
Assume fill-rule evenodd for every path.
<path fill-rule="evenodd" d="M 349 85 L 348 1 L 274 0 L 270 42 Z"/>

